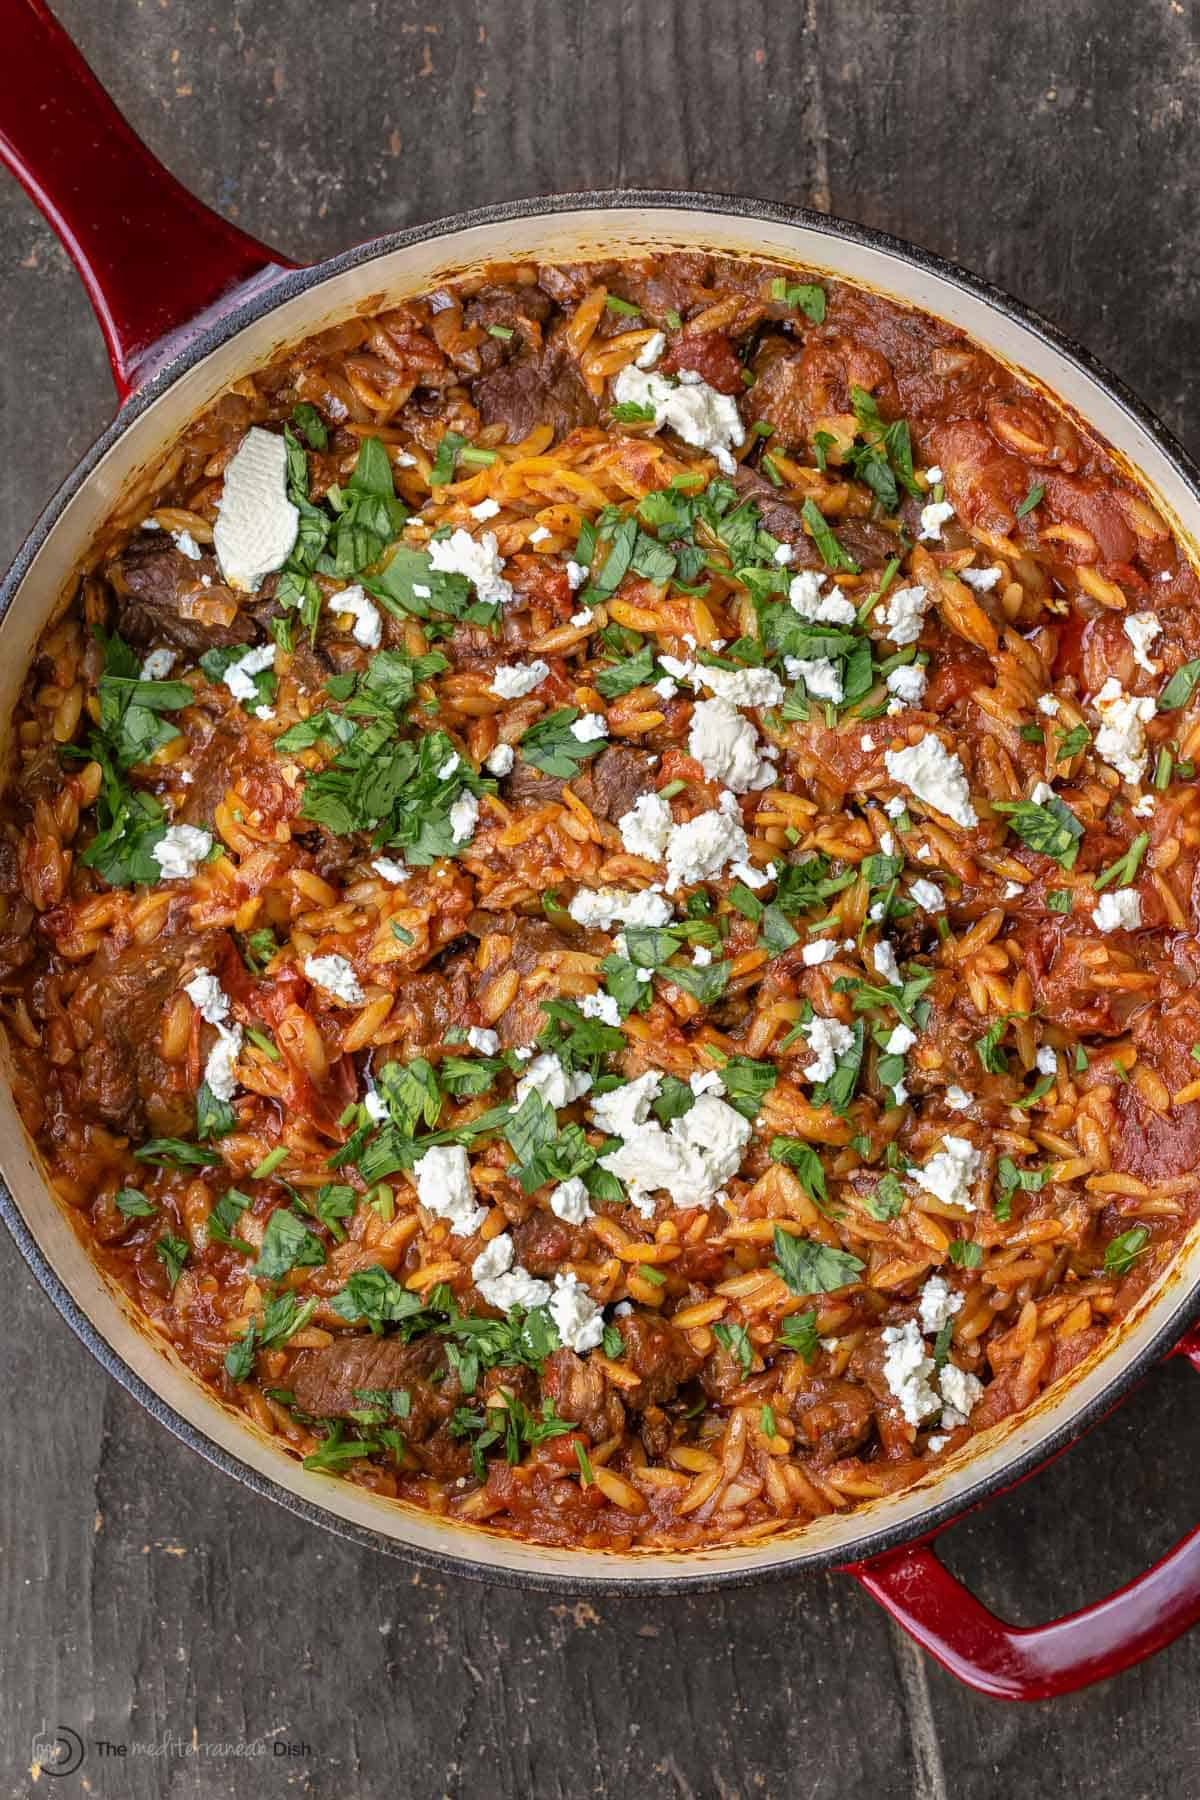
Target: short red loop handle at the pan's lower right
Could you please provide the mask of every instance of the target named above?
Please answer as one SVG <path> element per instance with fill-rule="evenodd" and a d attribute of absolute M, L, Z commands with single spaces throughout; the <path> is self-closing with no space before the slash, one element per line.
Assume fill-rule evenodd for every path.
<path fill-rule="evenodd" d="M 1178 1345 L 1200 1372 L 1200 1328 Z M 945 1526 L 943 1526 L 945 1530 Z M 930 1541 L 847 1570 L 943 1669 L 993 1699 L 1052 1699 L 1153 1656 L 1200 1620 L 1200 1526 L 1153 1568 L 1047 1625 L 1009 1625 L 939 1562 Z"/>

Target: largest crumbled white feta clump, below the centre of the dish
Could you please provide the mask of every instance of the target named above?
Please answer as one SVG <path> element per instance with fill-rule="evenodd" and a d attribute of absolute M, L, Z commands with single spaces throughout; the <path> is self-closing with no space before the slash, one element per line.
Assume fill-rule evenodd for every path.
<path fill-rule="evenodd" d="M 608 1098 L 612 1096 L 603 1096 Z M 599 1112 L 599 1107 L 597 1100 L 592 1111 Z M 633 1114 L 639 1111 L 640 1102 Z M 608 1121 L 601 1118 L 599 1123 Z M 630 1201 L 642 1217 L 651 1217 L 649 1195 L 658 1190 L 666 1190 L 676 1206 L 707 1206 L 730 1175 L 738 1174 L 750 1134 L 752 1125 L 741 1112 L 705 1093 L 691 1112 L 671 1120 L 666 1130 L 657 1120 L 633 1116 L 630 1129 L 617 1134 L 624 1138 L 621 1148 L 603 1156 L 601 1168 L 626 1183 Z"/>

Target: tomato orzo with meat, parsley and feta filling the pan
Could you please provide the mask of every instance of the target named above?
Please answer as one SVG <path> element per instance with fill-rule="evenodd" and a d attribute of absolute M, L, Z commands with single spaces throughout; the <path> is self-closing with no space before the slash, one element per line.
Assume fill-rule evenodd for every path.
<path fill-rule="evenodd" d="M 22 1114 L 196 1373 L 581 1546 L 903 1489 L 1196 1213 L 1200 610 L 948 326 L 489 268 L 239 382 L 38 648 Z"/>

